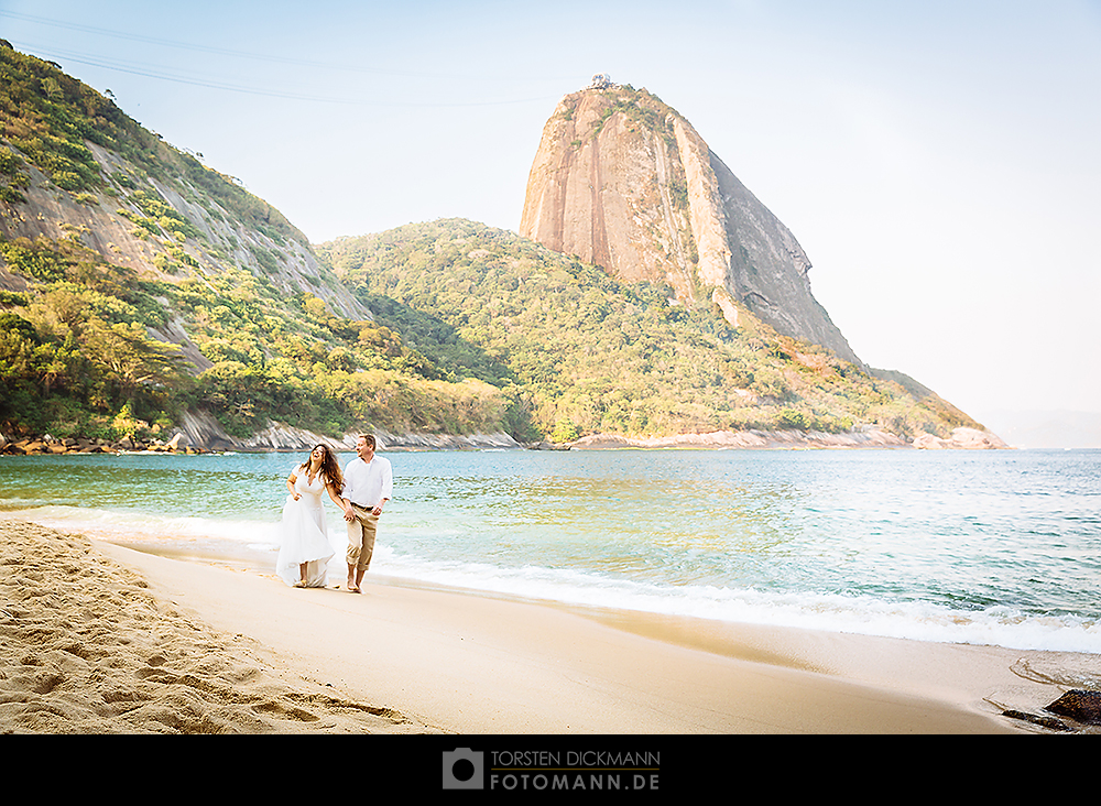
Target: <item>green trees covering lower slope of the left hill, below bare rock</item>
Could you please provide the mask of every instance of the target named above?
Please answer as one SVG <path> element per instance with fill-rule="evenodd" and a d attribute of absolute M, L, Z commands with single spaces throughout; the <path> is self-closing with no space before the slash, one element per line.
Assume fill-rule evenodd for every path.
<path fill-rule="evenodd" d="M 361 423 L 462 434 L 509 422 L 505 392 L 448 380 L 385 326 L 336 316 L 313 294 L 286 299 L 243 270 L 143 280 L 44 238 L 0 240 L 0 257 L 36 281 L 0 298 L 6 433 L 149 436 L 182 409 L 211 411 L 233 436 L 269 420 L 334 435 Z M 210 364 L 204 371 L 151 336 L 171 316 L 187 323 Z"/>

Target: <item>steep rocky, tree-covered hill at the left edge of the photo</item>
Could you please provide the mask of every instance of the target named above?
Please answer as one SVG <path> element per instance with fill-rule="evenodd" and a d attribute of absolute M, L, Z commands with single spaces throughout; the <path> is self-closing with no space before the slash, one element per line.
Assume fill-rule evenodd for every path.
<path fill-rule="evenodd" d="M 277 210 L 0 41 L 0 436 L 500 426 L 444 375 Z"/>

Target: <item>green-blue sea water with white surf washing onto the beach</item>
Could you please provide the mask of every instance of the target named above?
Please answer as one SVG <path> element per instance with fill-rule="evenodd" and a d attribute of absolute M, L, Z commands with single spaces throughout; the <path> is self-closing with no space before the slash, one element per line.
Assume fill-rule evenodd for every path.
<path fill-rule="evenodd" d="M 1101 654 L 1098 450 L 384 455 L 371 574 L 399 584 Z M 0 514 L 272 573 L 304 458 L 0 457 Z"/>

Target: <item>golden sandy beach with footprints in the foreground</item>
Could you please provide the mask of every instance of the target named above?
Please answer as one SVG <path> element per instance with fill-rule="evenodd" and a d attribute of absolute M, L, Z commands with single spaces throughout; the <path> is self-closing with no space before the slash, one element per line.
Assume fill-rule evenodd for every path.
<path fill-rule="evenodd" d="M 1072 653 L 362 595 L 0 521 L 0 732 L 1028 733 Z"/>

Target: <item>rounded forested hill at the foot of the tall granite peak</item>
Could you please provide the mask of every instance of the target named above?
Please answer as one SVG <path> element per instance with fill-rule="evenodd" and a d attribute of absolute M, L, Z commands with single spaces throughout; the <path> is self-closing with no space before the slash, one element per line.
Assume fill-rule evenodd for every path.
<path fill-rule="evenodd" d="M 677 305 L 668 286 L 621 283 L 472 221 L 408 225 L 317 251 L 377 323 L 450 377 L 515 390 L 534 433 L 556 440 L 981 428 L 928 390 L 872 378 L 744 308 L 734 328 L 718 305 Z"/>

